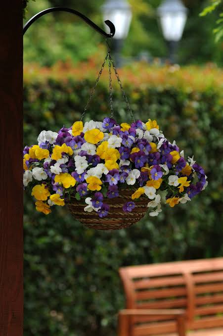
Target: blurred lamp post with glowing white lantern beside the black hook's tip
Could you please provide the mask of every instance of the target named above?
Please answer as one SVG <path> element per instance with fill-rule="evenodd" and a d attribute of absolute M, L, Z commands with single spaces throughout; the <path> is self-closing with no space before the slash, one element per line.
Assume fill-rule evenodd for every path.
<path fill-rule="evenodd" d="M 107 0 L 101 6 L 103 19 L 114 23 L 116 33 L 113 41 L 114 57 L 117 67 L 122 65 L 120 52 L 127 38 L 132 20 L 132 10 L 127 0 Z M 107 29 L 107 27 L 105 27 Z"/>

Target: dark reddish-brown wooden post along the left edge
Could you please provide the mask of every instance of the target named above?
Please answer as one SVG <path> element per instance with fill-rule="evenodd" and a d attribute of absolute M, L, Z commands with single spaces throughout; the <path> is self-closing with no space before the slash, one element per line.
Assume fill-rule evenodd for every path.
<path fill-rule="evenodd" d="M 22 1 L 0 9 L 0 336 L 23 335 Z"/>

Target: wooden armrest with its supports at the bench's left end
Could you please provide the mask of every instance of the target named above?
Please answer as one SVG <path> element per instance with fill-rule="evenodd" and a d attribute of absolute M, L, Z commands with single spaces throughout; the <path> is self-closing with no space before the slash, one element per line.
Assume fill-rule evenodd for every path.
<path fill-rule="evenodd" d="M 132 336 L 131 316 L 167 316 L 177 322 L 178 336 L 185 336 L 185 311 L 183 309 L 123 309 L 119 311 L 118 336 Z"/>

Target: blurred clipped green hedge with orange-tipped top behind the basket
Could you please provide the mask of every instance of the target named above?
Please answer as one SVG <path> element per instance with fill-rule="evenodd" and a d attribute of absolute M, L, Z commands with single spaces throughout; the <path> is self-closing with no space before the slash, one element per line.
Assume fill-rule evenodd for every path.
<path fill-rule="evenodd" d="M 76 69 L 25 68 L 25 144 L 35 143 L 43 129 L 58 131 L 80 118 L 96 65 L 91 60 Z M 138 64 L 120 75 L 135 117 L 156 118 L 168 139 L 204 166 L 209 186 L 191 204 L 166 207 L 158 218 L 117 232 L 85 229 L 66 208 L 39 214 L 25 195 L 25 336 L 115 336 L 117 312 L 125 304 L 120 266 L 223 255 L 223 72 L 211 65 Z M 117 90 L 115 112 L 119 121 L 130 120 Z M 88 117 L 105 115 L 106 74 Z"/>

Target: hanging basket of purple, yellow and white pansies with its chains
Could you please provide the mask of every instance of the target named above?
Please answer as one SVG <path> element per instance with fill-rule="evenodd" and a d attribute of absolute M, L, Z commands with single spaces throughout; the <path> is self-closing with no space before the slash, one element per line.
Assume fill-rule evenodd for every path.
<path fill-rule="evenodd" d="M 23 184 L 31 189 L 37 211 L 48 215 L 53 206 L 66 205 L 89 228 L 117 230 L 137 223 L 147 210 L 149 216 L 157 216 L 162 203 L 174 207 L 190 201 L 208 182 L 204 169 L 193 157 L 184 159 L 183 151 L 165 138 L 156 120 L 134 121 L 110 50 L 96 85 L 106 59 L 111 117 L 103 122 L 76 121 L 58 133 L 42 131 L 38 144 L 24 148 Z M 113 117 L 111 64 L 131 124 L 119 125 Z"/>

